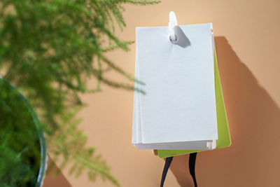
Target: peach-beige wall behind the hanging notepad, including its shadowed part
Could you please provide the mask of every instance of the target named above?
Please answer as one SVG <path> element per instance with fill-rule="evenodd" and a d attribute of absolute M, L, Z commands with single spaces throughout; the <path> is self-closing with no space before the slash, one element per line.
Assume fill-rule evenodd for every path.
<path fill-rule="evenodd" d="M 125 40 L 135 40 L 137 26 L 168 25 L 169 11 L 175 11 L 179 25 L 214 24 L 232 146 L 198 154 L 199 186 L 280 186 L 280 1 L 164 0 L 125 8 L 127 27 L 118 32 Z M 109 57 L 134 74 L 135 45 Z M 111 72 L 106 76 L 125 80 Z M 120 184 L 159 186 L 164 160 L 131 144 L 133 92 L 104 86 L 104 92 L 83 100 L 88 106 L 80 113 L 80 127 Z M 186 155 L 175 158 L 165 186 L 193 186 L 187 169 Z M 113 186 L 101 179 L 90 183 L 86 174 L 76 179 L 63 173 L 48 176 L 45 187 Z"/>

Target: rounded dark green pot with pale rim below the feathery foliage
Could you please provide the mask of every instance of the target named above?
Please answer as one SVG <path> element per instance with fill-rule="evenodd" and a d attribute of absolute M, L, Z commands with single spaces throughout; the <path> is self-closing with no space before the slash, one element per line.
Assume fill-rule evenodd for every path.
<path fill-rule="evenodd" d="M 42 186 L 47 159 L 43 126 L 34 109 L 0 77 L 0 186 Z"/>

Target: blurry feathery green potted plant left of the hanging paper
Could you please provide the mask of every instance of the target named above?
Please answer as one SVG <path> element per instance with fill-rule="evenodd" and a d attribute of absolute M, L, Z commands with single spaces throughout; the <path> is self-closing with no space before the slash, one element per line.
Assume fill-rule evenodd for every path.
<path fill-rule="evenodd" d="M 84 106 L 80 95 L 102 91 L 102 83 L 134 90 L 134 85 L 104 75 L 104 69 L 111 69 L 135 81 L 106 57 L 110 50 L 129 50 L 132 43 L 114 34 L 116 23 L 125 27 L 123 4 L 158 1 L 0 2 L 0 186 L 41 185 L 43 134 L 52 160 L 62 160 L 57 163 L 61 169 L 71 165 L 70 174 L 85 171 L 91 181 L 99 176 L 120 186 L 102 156 L 85 146 L 76 113 Z M 87 88 L 90 78 L 96 88 Z"/>

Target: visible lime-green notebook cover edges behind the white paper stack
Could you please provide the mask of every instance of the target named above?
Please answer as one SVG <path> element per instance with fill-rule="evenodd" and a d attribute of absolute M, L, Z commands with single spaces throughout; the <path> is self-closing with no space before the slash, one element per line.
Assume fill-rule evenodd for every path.
<path fill-rule="evenodd" d="M 230 146 L 230 131 L 228 129 L 228 118 L 225 113 L 225 103 L 223 101 L 223 91 L 221 86 L 220 75 L 218 72 L 218 63 L 216 53 L 214 53 L 214 76 L 215 76 L 215 95 L 216 95 L 216 111 L 218 124 L 218 139 L 216 141 L 216 148 L 223 148 Z M 196 153 L 207 150 L 158 150 L 160 158 L 167 158 L 176 155 L 185 155 L 188 153 Z"/>

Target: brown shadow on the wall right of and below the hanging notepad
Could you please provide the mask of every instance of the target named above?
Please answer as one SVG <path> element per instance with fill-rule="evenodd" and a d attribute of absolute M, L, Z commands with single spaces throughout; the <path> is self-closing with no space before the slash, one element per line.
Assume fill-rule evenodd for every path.
<path fill-rule="evenodd" d="M 232 146 L 197 154 L 198 186 L 280 186 L 280 109 L 227 39 L 215 42 Z M 170 169 L 181 186 L 193 186 L 186 155 Z"/>

